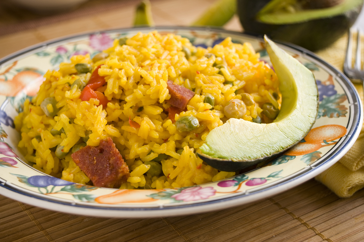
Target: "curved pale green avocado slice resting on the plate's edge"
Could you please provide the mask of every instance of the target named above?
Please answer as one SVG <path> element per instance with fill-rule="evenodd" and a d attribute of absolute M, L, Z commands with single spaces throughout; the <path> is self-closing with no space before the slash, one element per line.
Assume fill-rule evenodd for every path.
<path fill-rule="evenodd" d="M 318 91 L 312 72 L 264 39 L 280 81 L 281 110 L 273 123 L 231 118 L 211 130 L 198 156 L 218 170 L 241 170 L 280 154 L 300 142 L 316 120 Z"/>

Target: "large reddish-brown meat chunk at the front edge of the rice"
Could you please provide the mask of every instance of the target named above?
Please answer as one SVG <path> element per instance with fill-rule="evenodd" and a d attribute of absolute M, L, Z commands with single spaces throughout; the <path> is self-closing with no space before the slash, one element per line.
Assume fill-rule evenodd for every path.
<path fill-rule="evenodd" d="M 119 188 L 130 176 L 129 168 L 111 138 L 101 140 L 97 147 L 83 147 L 71 157 L 94 186 Z"/>

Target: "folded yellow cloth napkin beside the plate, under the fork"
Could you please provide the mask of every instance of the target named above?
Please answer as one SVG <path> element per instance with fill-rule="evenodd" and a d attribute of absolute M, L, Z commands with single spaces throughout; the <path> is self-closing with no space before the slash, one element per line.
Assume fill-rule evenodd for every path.
<path fill-rule="evenodd" d="M 363 86 L 354 84 L 363 101 Z M 364 126 L 351 149 L 332 167 L 316 176 L 339 197 L 350 197 L 364 187 Z"/>

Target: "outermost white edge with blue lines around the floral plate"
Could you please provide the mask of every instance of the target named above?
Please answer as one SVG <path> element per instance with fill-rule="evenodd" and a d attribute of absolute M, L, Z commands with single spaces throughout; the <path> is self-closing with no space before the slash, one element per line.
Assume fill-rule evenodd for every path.
<path fill-rule="evenodd" d="M 160 30 L 199 30 L 199 31 L 211 31 L 211 32 L 220 32 L 226 34 L 234 34 L 240 35 L 242 37 L 253 38 L 256 40 L 263 40 L 262 35 L 252 35 L 248 33 L 242 33 L 237 31 L 230 31 L 226 29 L 220 28 L 211 28 L 211 27 L 186 27 L 186 26 L 158 26 L 158 27 L 140 27 L 140 28 L 112 28 L 112 29 L 104 29 L 98 31 L 87 31 L 82 33 L 77 33 L 73 35 L 62 36 L 59 38 L 43 41 L 41 43 L 37 43 L 31 45 L 29 47 L 20 49 L 10 55 L 7 55 L 0 59 L 0 67 L 3 66 L 4 63 L 9 62 L 21 55 L 26 55 L 31 51 L 35 51 L 39 48 L 47 48 L 48 45 L 52 45 L 61 41 L 66 41 L 70 39 L 81 38 L 83 36 L 89 36 L 92 34 L 99 34 L 99 33 L 110 33 L 110 32 L 127 32 L 127 31 L 160 31 Z M 279 45 L 283 45 L 285 48 L 290 50 L 298 51 L 302 54 L 303 57 L 309 56 L 310 58 L 320 62 L 326 68 L 330 69 L 332 72 L 336 74 L 335 77 L 340 78 L 344 84 L 349 88 L 350 91 L 353 91 L 356 100 L 358 101 L 359 110 L 355 115 L 356 125 L 352 128 L 352 132 L 350 133 L 350 137 L 348 141 L 342 145 L 342 147 L 337 147 L 339 150 L 336 151 L 334 157 L 328 157 L 327 160 L 324 160 L 322 163 L 318 164 L 317 166 L 311 167 L 308 171 L 301 172 L 297 176 L 293 178 L 287 179 L 283 182 L 279 182 L 272 186 L 267 186 L 266 188 L 260 189 L 258 191 L 253 191 L 252 193 L 242 193 L 240 195 L 227 197 L 227 198 L 219 198 L 213 201 L 203 201 L 201 200 L 198 203 L 191 203 L 191 204 L 184 204 L 181 206 L 163 206 L 159 205 L 158 207 L 98 207 L 98 206 L 84 206 L 76 203 L 63 203 L 59 201 L 54 201 L 52 199 L 46 198 L 39 198 L 32 196 L 30 194 L 24 193 L 19 190 L 15 190 L 5 183 L 0 181 L 0 193 L 6 197 L 15 199 L 20 202 L 24 202 L 33 206 L 43 207 L 45 209 L 50 209 L 54 211 L 61 211 L 64 213 L 73 213 L 78 215 L 87 215 L 87 216 L 95 216 L 95 217 L 118 217 L 118 218 L 142 218 L 142 217 L 161 217 L 161 216 L 178 216 L 178 215 L 190 215 L 190 214 L 197 214 L 197 213 L 204 213 L 208 211 L 215 211 L 221 210 L 220 206 L 216 206 L 216 204 L 223 202 L 223 209 L 241 206 L 249 202 L 258 201 L 260 199 L 268 198 L 278 193 L 282 193 L 293 187 L 296 187 L 309 179 L 312 179 L 314 176 L 320 174 L 333 164 L 335 164 L 348 150 L 351 148 L 353 143 L 355 143 L 357 136 L 360 133 L 360 127 L 363 125 L 363 105 L 361 103 L 361 99 L 356 91 L 356 88 L 353 86 L 351 81 L 337 68 L 326 62 L 325 60 L 318 57 L 315 53 L 302 48 L 298 45 L 282 42 L 282 41 L 275 41 Z M 355 118 L 353 120 L 355 123 Z M 348 133 L 349 135 L 349 133 Z M 309 166 L 308 166 L 309 167 Z M 301 171 L 301 170 L 300 170 Z M 299 173 L 297 171 L 295 173 Z M 283 185 L 283 186 L 282 186 Z M 20 196 L 20 197 L 19 197 Z M 56 205 L 56 206 L 55 206 Z M 70 209 L 71 208 L 71 209 Z M 173 213 L 171 213 L 173 210 Z M 95 213 L 96 211 L 96 213 Z M 146 211 L 148 213 L 146 214 Z M 90 213 L 92 212 L 92 214 Z"/>

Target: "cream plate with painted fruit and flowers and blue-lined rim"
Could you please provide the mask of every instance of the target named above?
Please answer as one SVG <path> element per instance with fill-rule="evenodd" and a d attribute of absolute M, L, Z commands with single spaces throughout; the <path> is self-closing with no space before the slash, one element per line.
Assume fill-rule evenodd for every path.
<path fill-rule="evenodd" d="M 261 38 L 220 29 L 158 27 L 116 29 L 48 41 L 0 60 L 0 193 L 50 210 L 100 217 L 161 217 L 226 209 L 281 193 L 320 174 L 339 160 L 359 135 L 363 111 L 351 82 L 338 70 L 300 47 L 280 44 L 314 74 L 320 108 L 313 128 L 335 140 L 301 142 L 265 166 L 220 182 L 166 190 L 118 190 L 70 183 L 33 169 L 17 150 L 20 135 L 13 120 L 27 96 L 36 94 L 43 74 L 74 54 L 91 57 L 112 40 L 137 32 L 174 33 L 199 46 L 212 46 L 226 37 L 252 43 L 269 62 Z M 304 140 L 303 140 L 304 141 Z M 14 150 L 9 148 L 9 146 Z M 19 156 L 19 157 L 17 157 Z"/>

